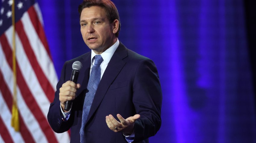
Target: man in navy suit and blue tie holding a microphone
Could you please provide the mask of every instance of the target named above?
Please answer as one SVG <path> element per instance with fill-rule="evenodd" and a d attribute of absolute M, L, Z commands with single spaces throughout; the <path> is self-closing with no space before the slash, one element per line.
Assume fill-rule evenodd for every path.
<path fill-rule="evenodd" d="M 148 142 L 161 126 L 155 64 L 117 39 L 120 20 L 112 1 L 84 0 L 78 11 L 83 40 L 92 51 L 64 63 L 49 124 L 57 133 L 71 128 L 70 142 Z M 83 64 L 77 84 L 69 81 L 75 61 Z"/>

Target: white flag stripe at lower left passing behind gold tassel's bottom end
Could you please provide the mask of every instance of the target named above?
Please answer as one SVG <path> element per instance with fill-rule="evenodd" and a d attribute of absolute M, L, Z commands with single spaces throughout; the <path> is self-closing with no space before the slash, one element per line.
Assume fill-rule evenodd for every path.
<path fill-rule="evenodd" d="M 8 129 L 11 138 L 16 143 L 22 143 L 24 142 L 20 132 L 15 132 L 14 128 L 11 127 L 11 112 L 9 111 L 4 98 L 2 97 L 2 92 L 0 91 L 0 117 L 2 118 L 2 121 L 4 121 L 4 124 L 6 128 Z"/>

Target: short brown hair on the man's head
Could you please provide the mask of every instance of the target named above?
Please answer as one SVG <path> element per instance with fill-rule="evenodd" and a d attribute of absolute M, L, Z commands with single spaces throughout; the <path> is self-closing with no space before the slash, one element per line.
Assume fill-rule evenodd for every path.
<path fill-rule="evenodd" d="M 79 19 L 81 17 L 82 10 L 87 7 L 92 6 L 99 6 L 104 8 L 104 10 L 107 13 L 107 17 L 109 22 L 114 22 L 115 19 L 119 21 L 119 28 L 117 33 L 115 34 L 116 37 L 119 35 L 119 31 L 121 29 L 121 23 L 119 18 L 119 13 L 117 11 L 117 7 L 115 4 L 110 0 L 83 0 L 83 2 L 78 6 L 78 12 L 79 12 Z"/>

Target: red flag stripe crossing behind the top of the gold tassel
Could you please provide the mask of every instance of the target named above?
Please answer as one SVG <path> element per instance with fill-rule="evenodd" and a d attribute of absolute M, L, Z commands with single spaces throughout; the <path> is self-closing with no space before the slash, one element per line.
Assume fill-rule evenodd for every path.
<path fill-rule="evenodd" d="M 2 44 L 2 41 L 1 41 L 1 44 Z M 11 92 L 10 90 L 8 89 L 5 81 L 4 81 L 4 78 L 3 78 L 3 75 L 2 75 L 2 72 L 0 72 L 0 90 L 2 92 L 2 96 L 5 100 L 5 103 L 7 104 L 10 112 L 12 111 L 12 101 L 13 101 L 13 98 L 11 96 Z M 23 140 L 25 142 L 35 142 L 33 137 L 31 136 L 29 130 L 27 129 L 27 126 L 26 124 L 24 123 L 23 121 L 23 118 L 20 116 L 20 111 L 19 111 L 19 119 L 20 119 L 20 134 L 23 138 Z M 1 133 L 2 134 L 2 133 Z"/>

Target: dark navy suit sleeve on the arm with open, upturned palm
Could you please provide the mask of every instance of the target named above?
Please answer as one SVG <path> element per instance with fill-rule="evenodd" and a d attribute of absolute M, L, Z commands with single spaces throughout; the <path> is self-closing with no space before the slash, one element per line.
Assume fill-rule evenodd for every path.
<path fill-rule="evenodd" d="M 135 139 L 154 136 L 161 127 L 162 91 L 156 66 L 146 59 L 137 67 L 133 82 L 133 104 L 140 118 L 135 121 Z"/>

